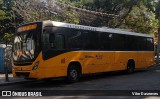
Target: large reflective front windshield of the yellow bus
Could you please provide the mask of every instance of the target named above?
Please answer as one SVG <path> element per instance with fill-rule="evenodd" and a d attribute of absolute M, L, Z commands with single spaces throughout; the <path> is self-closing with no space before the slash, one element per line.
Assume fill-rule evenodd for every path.
<path fill-rule="evenodd" d="M 33 33 L 26 32 L 18 34 L 14 39 L 14 61 L 29 61 L 34 59 L 35 40 Z"/>

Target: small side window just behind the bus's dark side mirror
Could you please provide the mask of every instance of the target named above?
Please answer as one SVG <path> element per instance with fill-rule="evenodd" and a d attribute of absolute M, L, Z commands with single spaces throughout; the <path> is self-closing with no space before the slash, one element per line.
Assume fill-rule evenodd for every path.
<path fill-rule="evenodd" d="M 56 49 L 64 49 L 65 47 L 65 44 L 64 44 L 64 36 L 63 35 L 56 35 L 55 36 L 55 48 Z"/>

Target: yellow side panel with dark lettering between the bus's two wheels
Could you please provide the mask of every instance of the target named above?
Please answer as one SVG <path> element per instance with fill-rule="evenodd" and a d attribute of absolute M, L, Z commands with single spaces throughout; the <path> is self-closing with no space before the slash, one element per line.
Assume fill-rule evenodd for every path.
<path fill-rule="evenodd" d="M 111 71 L 114 63 L 114 52 L 84 52 L 83 59 L 82 71 L 84 74 Z"/>

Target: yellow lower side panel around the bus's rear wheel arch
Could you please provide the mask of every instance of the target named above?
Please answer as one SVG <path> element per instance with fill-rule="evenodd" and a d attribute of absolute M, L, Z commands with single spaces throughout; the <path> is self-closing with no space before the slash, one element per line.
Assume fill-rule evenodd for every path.
<path fill-rule="evenodd" d="M 115 52 L 115 64 L 112 70 L 125 70 L 130 59 L 134 60 L 135 68 L 145 68 L 154 64 L 154 53 L 147 51 Z"/>

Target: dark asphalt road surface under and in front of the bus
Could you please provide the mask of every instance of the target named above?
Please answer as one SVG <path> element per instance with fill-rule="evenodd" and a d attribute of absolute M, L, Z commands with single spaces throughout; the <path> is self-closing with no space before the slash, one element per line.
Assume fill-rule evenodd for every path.
<path fill-rule="evenodd" d="M 54 79 L 51 81 L 40 80 L 32 83 L 1 86 L 0 90 L 19 90 L 19 91 L 39 90 L 39 91 L 42 91 L 42 95 L 44 94 L 45 91 L 46 92 L 52 91 L 52 93 L 56 93 L 59 90 L 60 91 L 62 90 L 62 93 L 60 95 L 56 96 L 55 94 L 53 94 L 53 96 L 45 97 L 47 99 L 50 99 L 50 98 L 57 98 L 57 99 L 95 98 L 97 99 L 99 97 L 101 97 L 102 99 L 106 97 L 111 99 L 115 99 L 115 98 L 133 98 L 133 99 L 157 98 L 158 99 L 160 98 L 158 96 L 154 97 L 154 96 L 138 95 L 138 96 L 131 97 L 131 96 L 123 96 L 123 95 L 124 93 L 129 93 L 129 92 L 132 93 L 136 91 L 138 92 L 148 91 L 150 93 L 157 92 L 160 95 L 160 66 L 151 67 L 149 69 L 138 70 L 132 74 L 125 74 L 123 72 L 114 72 L 114 73 L 88 75 L 88 76 L 82 77 L 82 79 L 79 82 L 73 83 L 73 84 L 66 83 L 64 79 Z M 111 93 L 111 95 L 109 94 L 109 96 L 107 96 L 107 94 L 105 93 L 97 94 L 101 92 L 102 93 L 108 92 L 108 93 Z M 65 93 L 69 93 L 69 94 L 66 95 Z M 79 96 L 76 93 L 78 93 Z M 122 93 L 122 95 L 120 94 L 119 96 L 118 93 Z M 114 96 L 114 95 L 118 95 L 118 96 Z M 37 98 L 42 98 L 42 97 L 37 97 Z"/>

